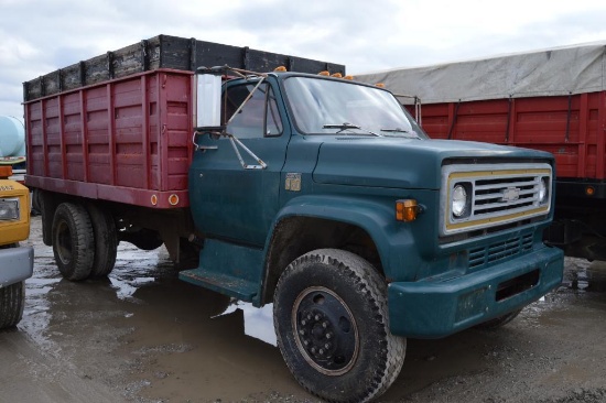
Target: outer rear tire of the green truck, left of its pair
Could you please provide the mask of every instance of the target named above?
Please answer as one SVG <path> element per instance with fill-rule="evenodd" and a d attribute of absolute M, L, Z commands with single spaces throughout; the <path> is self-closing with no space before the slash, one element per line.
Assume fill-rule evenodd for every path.
<path fill-rule="evenodd" d="M 73 203 L 58 205 L 53 219 L 53 254 L 61 274 L 71 281 L 88 277 L 95 258 L 95 236 L 86 209 Z"/>

